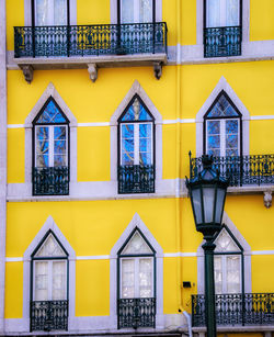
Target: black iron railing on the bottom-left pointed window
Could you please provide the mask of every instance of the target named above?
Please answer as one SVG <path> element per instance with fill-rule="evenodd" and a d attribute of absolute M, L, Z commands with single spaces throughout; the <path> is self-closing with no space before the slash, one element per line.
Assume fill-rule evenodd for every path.
<path fill-rule="evenodd" d="M 68 301 L 31 302 L 31 332 L 67 329 Z"/>

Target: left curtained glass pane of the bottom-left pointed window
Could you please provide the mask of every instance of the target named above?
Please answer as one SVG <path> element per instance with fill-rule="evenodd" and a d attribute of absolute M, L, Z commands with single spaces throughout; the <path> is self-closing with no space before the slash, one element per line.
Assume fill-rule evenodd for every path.
<path fill-rule="evenodd" d="M 48 301 L 48 262 L 35 262 L 34 300 Z"/>

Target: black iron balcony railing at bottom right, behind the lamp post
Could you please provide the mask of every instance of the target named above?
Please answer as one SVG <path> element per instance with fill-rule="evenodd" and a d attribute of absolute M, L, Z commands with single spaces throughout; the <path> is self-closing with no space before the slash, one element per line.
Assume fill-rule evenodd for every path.
<path fill-rule="evenodd" d="M 216 294 L 217 325 L 273 325 L 274 294 Z M 205 326 L 205 295 L 192 295 L 192 326 Z"/>

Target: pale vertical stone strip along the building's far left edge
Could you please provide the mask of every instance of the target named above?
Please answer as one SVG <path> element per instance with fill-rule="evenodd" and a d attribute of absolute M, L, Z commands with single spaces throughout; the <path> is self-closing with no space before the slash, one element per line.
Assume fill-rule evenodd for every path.
<path fill-rule="evenodd" d="M 4 333 L 5 228 L 7 228 L 7 18 L 0 1 L 0 334 Z"/>

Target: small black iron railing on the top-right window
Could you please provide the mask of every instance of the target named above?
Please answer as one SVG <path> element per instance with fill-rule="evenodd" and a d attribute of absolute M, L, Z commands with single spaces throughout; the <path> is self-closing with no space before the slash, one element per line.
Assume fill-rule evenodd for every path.
<path fill-rule="evenodd" d="M 241 55 L 241 26 L 204 29 L 204 56 Z"/>

